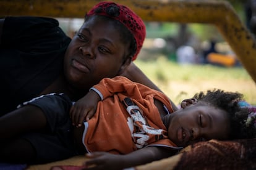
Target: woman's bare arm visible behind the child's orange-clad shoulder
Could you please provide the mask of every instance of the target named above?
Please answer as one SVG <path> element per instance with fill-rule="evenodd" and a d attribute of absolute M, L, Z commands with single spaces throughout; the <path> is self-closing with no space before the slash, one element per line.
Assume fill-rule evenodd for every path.
<path fill-rule="evenodd" d="M 144 84 L 145 86 L 150 87 L 151 89 L 155 89 L 156 91 L 161 91 L 143 72 L 138 68 L 134 62 L 130 63 L 130 65 L 126 68 L 126 70 L 122 73 L 121 76 L 125 76 L 129 78 L 131 81 Z M 171 99 L 169 99 L 173 110 L 176 111 L 177 107 L 173 103 Z"/>

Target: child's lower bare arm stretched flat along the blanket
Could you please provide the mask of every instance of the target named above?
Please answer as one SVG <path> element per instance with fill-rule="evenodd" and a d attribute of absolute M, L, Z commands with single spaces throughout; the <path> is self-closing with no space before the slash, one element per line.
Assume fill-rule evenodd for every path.
<path fill-rule="evenodd" d="M 88 153 L 92 158 L 85 162 L 85 166 L 96 166 L 95 169 L 124 169 L 140 164 L 150 163 L 174 155 L 172 150 L 163 147 L 146 147 L 127 155 L 114 155 L 106 152 Z M 90 169 L 90 168 L 89 168 Z"/>

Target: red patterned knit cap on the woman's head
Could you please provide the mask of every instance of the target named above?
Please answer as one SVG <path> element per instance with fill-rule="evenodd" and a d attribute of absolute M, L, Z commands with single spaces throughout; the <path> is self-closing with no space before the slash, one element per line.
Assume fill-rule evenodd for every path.
<path fill-rule="evenodd" d="M 109 9 L 112 7 L 117 10 L 119 9 L 119 14 L 111 14 L 111 10 Z M 87 13 L 87 16 L 91 15 L 104 15 L 106 17 L 113 18 L 114 20 L 118 20 L 124 26 L 126 26 L 126 28 L 133 34 L 137 43 L 137 49 L 132 57 L 132 60 L 137 58 L 146 36 L 145 25 L 137 14 L 135 14 L 128 7 L 116 4 L 114 2 L 100 2 Z"/>

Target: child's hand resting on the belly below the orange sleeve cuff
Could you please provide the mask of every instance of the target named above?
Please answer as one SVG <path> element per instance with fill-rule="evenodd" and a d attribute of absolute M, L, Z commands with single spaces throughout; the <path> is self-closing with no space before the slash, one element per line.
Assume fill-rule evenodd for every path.
<path fill-rule="evenodd" d="M 74 126 L 82 126 L 83 121 L 88 121 L 95 114 L 100 96 L 95 91 L 89 91 L 82 99 L 75 102 L 69 114 Z"/>

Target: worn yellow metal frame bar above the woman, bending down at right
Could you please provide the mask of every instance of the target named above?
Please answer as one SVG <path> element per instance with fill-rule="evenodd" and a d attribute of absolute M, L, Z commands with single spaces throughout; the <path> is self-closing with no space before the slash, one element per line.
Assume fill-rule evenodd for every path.
<path fill-rule="evenodd" d="M 0 17 L 37 15 L 81 18 L 97 2 L 100 1 L 1 0 Z M 210 23 L 215 25 L 256 83 L 256 41 L 228 1 L 119 0 L 116 2 L 129 6 L 148 22 Z"/>

